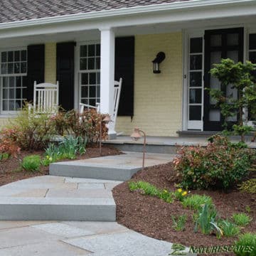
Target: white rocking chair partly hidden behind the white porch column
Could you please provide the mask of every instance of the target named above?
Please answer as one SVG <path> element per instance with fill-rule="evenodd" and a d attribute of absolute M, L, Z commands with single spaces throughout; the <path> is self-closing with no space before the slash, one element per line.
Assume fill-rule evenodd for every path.
<path fill-rule="evenodd" d="M 120 99 L 120 93 L 122 88 L 122 78 L 120 78 L 119 81 L 114 81 L 114 111 L 113 111 L 113 127 L 115 127 L 116 121 L 117 121 L 117 111 L 119 107 L 119 99 Z M 100 113 L 100 103 L 96 103 L 96 106 L 80 103 L 80 114 L 84 112 L 85 108 L 92 108 L 97 110 L 98 113 Z"/>

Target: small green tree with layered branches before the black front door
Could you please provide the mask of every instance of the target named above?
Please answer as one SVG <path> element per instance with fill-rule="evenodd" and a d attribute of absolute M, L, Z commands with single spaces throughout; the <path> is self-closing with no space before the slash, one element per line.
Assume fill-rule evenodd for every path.
<path fill-rule="evenodd" d="M 223 128 L 228 130 L 228 117 L 238 117 L 237 124 L 234 124 L 233 133 L 240 135 L 241 142 L 245 141 L 245 134 L 252 131 L 252 127 L 247 126 L 247 114 L 245 110 L 250 110 L 250 114 L 256 114 L 256 83 L 253 78 L 253 71 L 256 65 L 247 61 L 245 64 L 235 63 L 230 59 L 223 59 L 219 64 L 214 64 L 210 70 L 213 78 L 218 78 L 223 87 L 232 85 L 233 89 L 238 91 L 238 98 L 233 95 L 226 95 L 219 89 L 208 89 L 210 96 L 216 100 L 216 105 L 220 107 L 220 112 L 225 122 Z"/>

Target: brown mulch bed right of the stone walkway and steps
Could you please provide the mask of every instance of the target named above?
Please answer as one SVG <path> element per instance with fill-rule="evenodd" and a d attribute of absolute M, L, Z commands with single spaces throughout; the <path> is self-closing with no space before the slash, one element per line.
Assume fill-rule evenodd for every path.
<path fill-rule="evenodd" d="M 171 163 L 152 166 L 139 171 L 132 177 L 131 181 L 147 181 L 158 188 L 167 188 L 174 191 L 175 184 L 171 181 L 174 176 Z M 222 218 L 230 218 L 233 213 L 246 213 L 245 207 L 250 207 L 250 216 L 253 218 L 250 225 L 242 229 L 242 232 L 255 233 L 256 230 L 256 195 L 241 193 L 238 190 L 228 191 L 191 191 L 191 193 L 206 194 L 213 198 Z M 233 245 L 237 238 L 221 238 L 215 235 L 203 235 L 194 233 L 192 219 L 193 210 L 181 206 L 181 203 L 165 203 L 159 198 L 144 196 L 139 191 L 129 191 L 127 182 L 116 186 L 113 190 L 114 201 L 117 203 L 117 222 L 147 235 L 151 238 L 181 243 L 186 246 L 211 246 L 211 245 Z M 186 229 L 177 232 L 172 228 L 171 215 L 186 214 L 188 220 Z M 217 255 L 217 254 L 214 254 Z M 233 255 L 232 253 L 218 253 L 218 255 Z"/>

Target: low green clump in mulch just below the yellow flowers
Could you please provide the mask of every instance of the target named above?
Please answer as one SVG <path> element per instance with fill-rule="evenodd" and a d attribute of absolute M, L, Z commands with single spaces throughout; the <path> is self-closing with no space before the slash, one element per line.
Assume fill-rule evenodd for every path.
<path fill-rule="evenodd" d="M 182 205 L 193 210 L 200 210 L 204 204 L 213 205 L 213 200 L 210 196 L 191 195 L 183 199 Z"/>

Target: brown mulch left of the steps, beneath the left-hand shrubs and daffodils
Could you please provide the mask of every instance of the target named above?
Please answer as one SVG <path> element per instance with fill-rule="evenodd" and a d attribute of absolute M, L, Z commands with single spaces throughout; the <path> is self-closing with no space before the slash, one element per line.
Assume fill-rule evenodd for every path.
<path fill-rule="evenodd" d="M 48 166 L 41 166 L 39 171 L 25 171 L 21 168 L 21 161 L 24 156 L 31 154 L 39 154 L 43 156 L 44 151 L 21 151 L 21 154 L 17 158 L 11 157 L 6 161 L 0 162 L 0 186 L 11 183 L 14 181 L 19 181 L 23 178 L 31 178 L 35 176 L 48 175 Z M 118 149 L 114 149 L 110 146 L 102 146 L 102 156 L 111 156 L 122 154 Z M 88 146 L 86 148 L 86 153 L 82 156 L 78 156 L 78 159 L 90 159 L 92 157 L 100 156 L 99 148 L 97 146 Z M 63 159 L 61 161 L 71 161 L 69 159 Z"/>

